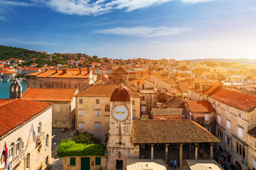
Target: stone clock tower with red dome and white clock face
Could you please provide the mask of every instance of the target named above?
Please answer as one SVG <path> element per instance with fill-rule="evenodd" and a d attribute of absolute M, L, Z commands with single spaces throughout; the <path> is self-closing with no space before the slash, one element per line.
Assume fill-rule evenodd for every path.
<path fill-rule="evenodd" d="M 139 159 L 139 146 L 131 143 L 132 94 L 123 84 L 112 93 L 110 111 L 107 169 L 123 170 L 127 159 Z"/>

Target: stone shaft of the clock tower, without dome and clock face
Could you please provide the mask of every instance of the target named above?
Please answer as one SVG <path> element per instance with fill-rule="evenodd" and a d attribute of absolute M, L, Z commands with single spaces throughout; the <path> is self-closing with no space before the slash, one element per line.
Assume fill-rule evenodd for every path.
<path fill-rule="evenodd" d="M 114 107 L 127 108 L 128 117 L 124 121 L 114 118 Z M 127 159 L 139 159 L 139 145 L 132 145 L 132 102 L 110 101 L 110 131 L 107 142 L 107 169 L 126 169 Z M 118 165 L 119 164 L 119 165 Z"/>

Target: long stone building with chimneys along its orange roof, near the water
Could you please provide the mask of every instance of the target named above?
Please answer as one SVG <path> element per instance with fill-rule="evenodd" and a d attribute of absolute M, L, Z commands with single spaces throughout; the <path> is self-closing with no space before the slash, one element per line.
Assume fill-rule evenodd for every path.
<path fill-rule="evenodd" d="M 48 70 L 28 74 L 26 86 L 31 88 L 48 89 L 78 89 L 82 91 L 94 84 L 97 75 L 87 69 Z"/>

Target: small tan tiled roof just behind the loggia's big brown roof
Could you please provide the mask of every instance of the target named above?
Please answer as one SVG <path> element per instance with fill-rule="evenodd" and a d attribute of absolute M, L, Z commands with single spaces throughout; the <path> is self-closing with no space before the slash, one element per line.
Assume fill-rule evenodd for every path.
<path fill-rule="evenodd" d="M 152 108 L 152 115 L 185 115 L 186 110 L 183 108 Z"/>

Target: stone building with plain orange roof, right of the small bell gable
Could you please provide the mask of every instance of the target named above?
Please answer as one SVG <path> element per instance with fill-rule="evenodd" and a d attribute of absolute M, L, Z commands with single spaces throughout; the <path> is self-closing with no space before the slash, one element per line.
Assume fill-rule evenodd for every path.
<path fill-rule="evenodd" d="M 23 99 L 53 103 L 53 128 L 75 128 L 75 94 L 78 89 L 37 89 L 28 88 Z"/>

